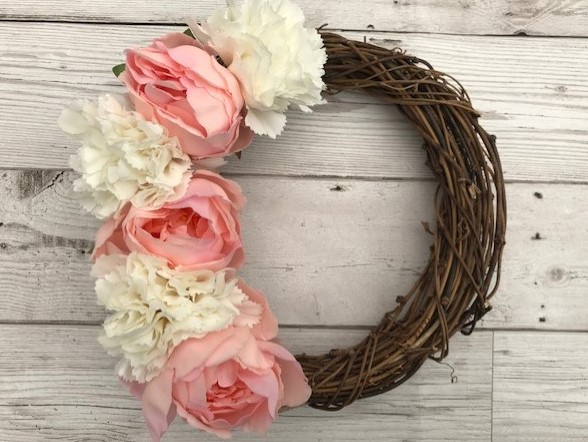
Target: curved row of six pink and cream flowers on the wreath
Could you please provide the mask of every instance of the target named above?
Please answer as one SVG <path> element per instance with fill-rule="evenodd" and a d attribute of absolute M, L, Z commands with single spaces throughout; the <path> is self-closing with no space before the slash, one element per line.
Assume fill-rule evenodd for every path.
<path fill-rule="evenodd" d="M 100 343 L 142 402 L 154 441 L 176 415 L 229 437 L 264 433 L 304 404 L 300 364 L 275 342 L 266 298 L 237 276 L 245 260 L 239 185 L 214 169 L 284 112 L 321 102 L 317 31 L 289 0 L 232 1 L 191 32 L 129 49 L 126 96 L 68 106 L 82 206 L 104 224 L 92 255 Z"/>

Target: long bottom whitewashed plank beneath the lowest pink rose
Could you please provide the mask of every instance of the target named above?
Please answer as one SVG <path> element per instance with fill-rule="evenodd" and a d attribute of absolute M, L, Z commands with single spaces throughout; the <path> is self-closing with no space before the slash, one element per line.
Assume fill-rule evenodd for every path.
<path fill-rule="evenodd" d="M 0 353 L 0 440 L 147 440 L 139 404 L 118 385 L 97 333 L 97 327 L 0 326 L 0 348 L 17 352 Z M 281 337 L 293 352 L 324 352 L 365 333 L 286 329 Z M 446 361 L 456 383 L 448 366 L 427 362 L 398 389 L 344 411 L 290 410 L 268 440 L 490 441 L 492 334 L 456 337 L 451 350 Z M 164 440 L 216 439 L 178 420 Z"/>

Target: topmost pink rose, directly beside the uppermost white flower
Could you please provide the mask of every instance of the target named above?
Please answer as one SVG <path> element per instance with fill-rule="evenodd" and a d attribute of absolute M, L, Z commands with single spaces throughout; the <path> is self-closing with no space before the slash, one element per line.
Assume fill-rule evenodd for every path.
<path fill-rule="evenodd" d="M 223 157 L 251 143 L 239 82 L 187 35 L 168 34 L 128 50 L 120 78 L 137 111 L 165 126 L 197 159 Z"/>

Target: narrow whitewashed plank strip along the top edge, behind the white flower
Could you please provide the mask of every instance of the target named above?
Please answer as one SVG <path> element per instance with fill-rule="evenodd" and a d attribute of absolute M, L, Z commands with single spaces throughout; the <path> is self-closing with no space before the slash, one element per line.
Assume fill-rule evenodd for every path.
<path fill-rule="evenodd" d="M 205 18 L 223 0 L 22 0 L 5 2 L 0 20 L 184 23 Z M 445 34 L 585 35 L 583 0 L 298 0 L 308 23 L 335 29 Z"/>

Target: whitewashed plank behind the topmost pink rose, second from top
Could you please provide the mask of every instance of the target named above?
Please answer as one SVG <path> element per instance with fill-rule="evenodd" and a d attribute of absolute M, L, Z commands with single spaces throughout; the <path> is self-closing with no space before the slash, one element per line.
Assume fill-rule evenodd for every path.
<path fill-rule="evenodd" d="M 182 28 L 1 24 L 0 167 L 67 168 L 75 143 L 56 128 L 63 105 L 124 92 L 110 72 L 123 49 L 172 29 Z M 507 180 L 588 181 L 586 39 L 345 35 L 401 46 L 455 74 L 498 137 Z M 456 48 L 467 57 L 456 57 Z M 430 178 L 422 140 L 395 108 L 356 95 L 332 99 L 311 115 L 291 112 L 279 140 L 258 137 L 227 172 Z"/>

